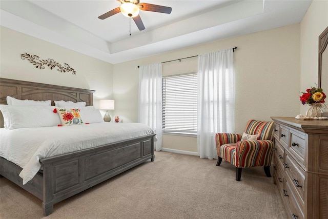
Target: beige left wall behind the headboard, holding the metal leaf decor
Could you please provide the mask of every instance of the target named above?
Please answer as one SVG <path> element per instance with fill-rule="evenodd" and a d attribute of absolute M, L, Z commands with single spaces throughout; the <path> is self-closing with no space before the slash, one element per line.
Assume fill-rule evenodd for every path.
<path fill-rule="evenodd" d="M 0 76 L 22 81 L 62 85 L 96 90 L 94 104 L 100 98 L 113 97 L 112 64 L 48 43 L 41 39 L 0 27 Z M 51 58 L 62 66 L 68 63 L 75 71 L 59 72 L 57 68 L 36 69 L 20 54 L 37 55 L 39 59 Z"/>

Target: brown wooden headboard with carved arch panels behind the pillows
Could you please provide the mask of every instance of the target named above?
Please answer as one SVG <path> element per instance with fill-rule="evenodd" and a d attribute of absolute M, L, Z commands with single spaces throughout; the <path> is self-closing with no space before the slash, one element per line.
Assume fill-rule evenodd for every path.
<path fill-rule="evenodd" d="M 6 97 L 16 99 L 33 99 L 34 101 L 51 100 L 86 102 L 87 106 L 93 105 L 94 90 L 48 85 L 35 82 L 18 81 L 8 78 L 0 78 L 0 104 L 7 104 Z M 0 127 L 4 127 L 4 118 L 0 116 Z"/>

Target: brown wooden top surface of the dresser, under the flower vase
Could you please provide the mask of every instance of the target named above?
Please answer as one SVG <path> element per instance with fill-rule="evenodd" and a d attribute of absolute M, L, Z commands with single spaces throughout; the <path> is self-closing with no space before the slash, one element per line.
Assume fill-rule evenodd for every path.
<path fill-rule="evenodd" d="M 294 128 L 302 129 L 305 132 L 311 130 L 321 130 L 321 133 L 328 134 L 328 120 L 296 120 L 295 117 L 271 117 L 274 122 L 280 122 Z"/>

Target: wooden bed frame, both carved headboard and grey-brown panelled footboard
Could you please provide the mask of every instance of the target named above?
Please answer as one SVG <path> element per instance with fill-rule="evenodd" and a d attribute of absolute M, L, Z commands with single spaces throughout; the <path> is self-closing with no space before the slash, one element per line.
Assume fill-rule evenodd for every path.
<path fill-rule="evenodd" d="M 0 104 L 6 96 L 35 101 L 73 101 L 93 105 L 94 90 L 17 81 L 0 78 Z M 3 116 L 0 116 L 3 127 Z M 43 201 L 43 212 L 53 212 L 53 205 L 72 195 L 95 186 L 109 178 L 148 160 L 154 161 L 155 134 L 133 138 L 109 145 L 42 158 L 43 171 L 23 185 L 18 176 L 22 168 L 0 157 L 0 174 Z"/>

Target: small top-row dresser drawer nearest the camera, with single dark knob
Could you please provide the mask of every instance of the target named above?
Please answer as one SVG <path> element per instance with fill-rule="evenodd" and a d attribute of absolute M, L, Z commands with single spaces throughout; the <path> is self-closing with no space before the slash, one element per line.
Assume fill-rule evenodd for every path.
<path fill-rule="evenodd" d="M 304 153 L 305 153 L 305 135 L 296 131 L 290 131 L 291 143 L 289 145 L 289 151 L 294 157 L 304 165 Z"/>

